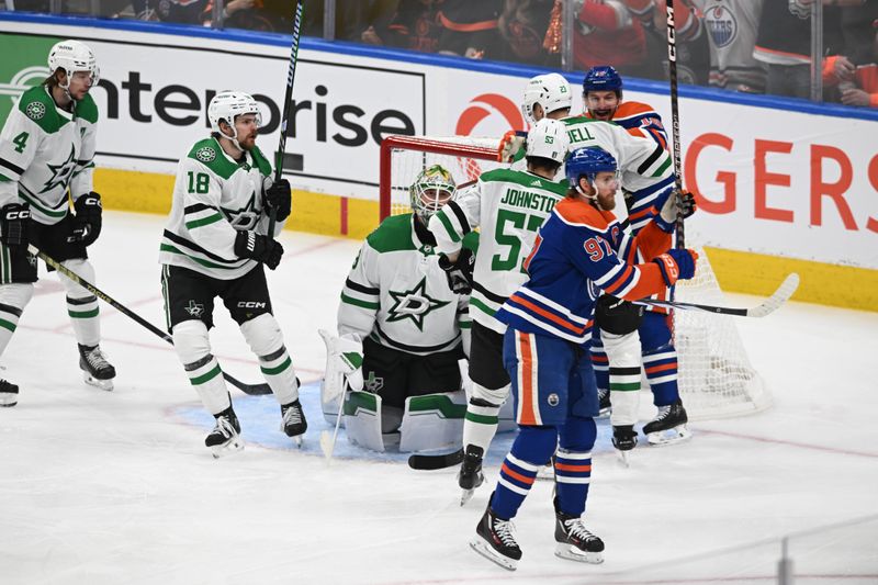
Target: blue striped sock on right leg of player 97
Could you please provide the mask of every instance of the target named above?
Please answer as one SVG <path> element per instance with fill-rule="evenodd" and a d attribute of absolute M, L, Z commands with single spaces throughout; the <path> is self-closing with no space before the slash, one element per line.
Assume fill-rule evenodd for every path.
<path fill-rule="evenodd" d="M 561 448 L 555 455 L 558 507 L 579 517 L 588 499 L 592 481 L 592 448 L 597 437 L 594 418 L 571 417 L 560 429 Z"/>

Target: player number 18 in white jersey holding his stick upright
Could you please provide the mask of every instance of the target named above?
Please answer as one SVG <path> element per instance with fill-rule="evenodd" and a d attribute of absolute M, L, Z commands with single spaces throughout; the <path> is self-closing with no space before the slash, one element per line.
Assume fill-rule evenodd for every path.
<path fill-rule="evenodd" d="M 300 442 L 307 423 L 262 268 L 275 269 L 283 255 L 273 238 L 290 215 L 290 183 L 272 184 L 271 165 L 256 146 L 261 122 L 256 100 L 238 91 L 217 93 L 207 116 L 211 136 L 196 142 L 177 167 L 159 261 L 175 349 L 216 419 L 204 442 L 214 457 L 221 457 L 243 449 L 244 441 L 207 336 L 217 296 L 259 359 L 281 405 L 281 429 Z M 277 224 L 268 234 L 271 211 Z"/>

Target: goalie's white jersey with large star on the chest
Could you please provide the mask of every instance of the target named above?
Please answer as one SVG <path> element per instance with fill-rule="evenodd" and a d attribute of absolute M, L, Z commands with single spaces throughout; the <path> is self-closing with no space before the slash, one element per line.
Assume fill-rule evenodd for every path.
<path fill-rule="evenodd" d="M 369 235 L 341 291 L 338 333 L 419 356 L 461 341 L 468 349 L 469 297 L 451 292 L 414 222 L 410 213 L 392 215 Z"/>

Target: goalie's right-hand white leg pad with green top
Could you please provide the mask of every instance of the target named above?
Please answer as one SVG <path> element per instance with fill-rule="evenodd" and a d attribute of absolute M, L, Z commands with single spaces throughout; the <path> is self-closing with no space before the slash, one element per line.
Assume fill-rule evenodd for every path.
<path fill-rule="evenodd" d="M 399 425 L 399 451 L 429 451 L 460 445 L 465 414 L 463 392 L 409 396 Z"/>

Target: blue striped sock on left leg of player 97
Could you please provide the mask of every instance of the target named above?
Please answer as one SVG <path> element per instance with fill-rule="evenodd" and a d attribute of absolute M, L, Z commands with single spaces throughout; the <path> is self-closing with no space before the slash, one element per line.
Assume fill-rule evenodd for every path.
<path fill-rule="evenodd" d="M 500 466 L 500 477 L 491 500 L 494 513 L 505 519 L 514 518 L 530 492 L 537 472 L 549 462 L 558 446 L 555 427 L 521 426 L 513 449 Z"/>

